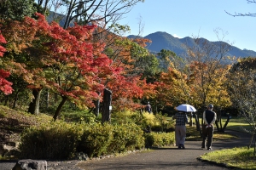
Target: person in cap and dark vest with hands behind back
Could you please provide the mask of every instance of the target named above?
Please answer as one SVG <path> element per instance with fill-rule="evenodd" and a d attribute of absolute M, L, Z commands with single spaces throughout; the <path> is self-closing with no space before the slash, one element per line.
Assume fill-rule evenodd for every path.
<path fill-rule="evenodd" d="M 214 131 L 214 122 L 216 121 L 217 114 L 212 111 L 213 105 L 210 104 L 207 110 L 203 112 L 203 126 L 202 126 L 202 144 L 201 148 L 206 148 L 207 140 L 207 150 L 212 150 L 212 136 Z"/>

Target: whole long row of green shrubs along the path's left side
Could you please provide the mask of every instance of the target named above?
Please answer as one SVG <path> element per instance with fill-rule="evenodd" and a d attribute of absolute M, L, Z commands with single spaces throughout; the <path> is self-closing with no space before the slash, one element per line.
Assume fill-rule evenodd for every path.
<path fill-rule="evenodd" d="M 109 124 L 48 122 L 26 129 L 21 137 L 21 157 L 32 159 L 69 159 L 75 152 L 102 156 L 142 149 L 143 130 L 135 123 Z"/>

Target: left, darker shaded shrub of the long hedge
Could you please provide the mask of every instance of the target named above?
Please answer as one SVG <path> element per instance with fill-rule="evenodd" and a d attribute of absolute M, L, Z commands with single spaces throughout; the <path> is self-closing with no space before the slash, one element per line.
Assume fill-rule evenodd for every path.
<path fill-rule="evenodd" d="M 81 133 L 75 124 L 44 123 L 28 128 L 21 135 L 21 158 L 68 159 L 73 157 Z"/>

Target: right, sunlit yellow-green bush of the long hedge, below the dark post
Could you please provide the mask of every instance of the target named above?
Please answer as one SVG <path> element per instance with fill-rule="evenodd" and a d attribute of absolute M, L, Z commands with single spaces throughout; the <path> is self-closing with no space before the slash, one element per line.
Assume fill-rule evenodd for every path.
<path fill-rule="evenodd" d="M 143 147 L 143 130 L 136 124 L 110 125 L 106 123 L 102 126 L 97 123 L 84 127 L 78 150 L 92 157 Z"/>

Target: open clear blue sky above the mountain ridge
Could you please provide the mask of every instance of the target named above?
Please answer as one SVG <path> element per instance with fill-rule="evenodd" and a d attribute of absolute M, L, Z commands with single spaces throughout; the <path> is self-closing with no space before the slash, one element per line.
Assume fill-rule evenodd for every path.
<path fill-rule="evenodd" d="M 173 37 L 204 37 L 256 51 L 256 17 L 233 17 L 225 11 L 256 13 L 256 3 L 247 3 L 247 0 L 145 0 L 119 21 L 131 27 L 126 36 L 138 35 L 143 26 L 142 37 L 165 31 Z"/>

